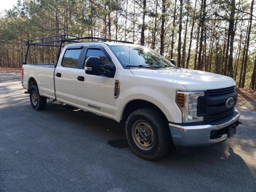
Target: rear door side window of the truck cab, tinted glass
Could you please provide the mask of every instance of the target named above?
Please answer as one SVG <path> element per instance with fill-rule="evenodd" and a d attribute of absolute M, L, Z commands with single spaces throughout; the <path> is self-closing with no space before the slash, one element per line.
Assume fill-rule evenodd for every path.
<path fill-rule="evenodd" d="M 82 49 L 68 49 L 66 50 L 63 59 L 62 59 L 62 66 L 63 67 L 70 67 L 70 68 L 77 68 L 78 58 L 80 56 Z"/>

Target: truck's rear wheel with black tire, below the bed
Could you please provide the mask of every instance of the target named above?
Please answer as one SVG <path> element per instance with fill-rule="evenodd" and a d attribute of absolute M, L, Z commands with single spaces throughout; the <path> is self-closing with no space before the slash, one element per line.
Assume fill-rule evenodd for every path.
<path fill-rule="evenodd" d="M 30 103 L 34 110 L 42 110 L 46 107 L 46 97 L 40 96 L 38 86 L 33 85 L 29 90 Z"/>

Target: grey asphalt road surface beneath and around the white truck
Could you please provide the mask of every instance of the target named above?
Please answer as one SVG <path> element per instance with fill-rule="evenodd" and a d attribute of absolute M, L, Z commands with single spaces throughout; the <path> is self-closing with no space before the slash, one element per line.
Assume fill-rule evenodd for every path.
<path fill-rule="evenodd" d="M 237 134 L 156 161 L 136 156 L 120 124 L 49 101 L 35 111 L 20 76 L 0 74 L 0 192 L 256 192 L 256 111 Z"/>

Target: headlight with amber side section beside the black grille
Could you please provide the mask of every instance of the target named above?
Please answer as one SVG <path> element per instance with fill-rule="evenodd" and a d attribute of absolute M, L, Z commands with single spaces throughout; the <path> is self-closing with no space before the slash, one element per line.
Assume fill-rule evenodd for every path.
<path fill-rule="evenodd" d="M 197 101 L 199 96 L 204 96 L 204 92 L 177 92 L 176 102 L 182 111 L 182 122 L 196 122 L 203 120 L 203 117 L 197 116 Z"/>

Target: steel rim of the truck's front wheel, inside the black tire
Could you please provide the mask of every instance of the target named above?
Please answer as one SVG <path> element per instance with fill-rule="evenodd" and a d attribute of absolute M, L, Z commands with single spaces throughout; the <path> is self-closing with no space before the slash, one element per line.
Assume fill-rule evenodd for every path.
<path fill-rule="evenodd" d="M 142 150 L 150 150 L 154 146 L 154 131 L 152 127 L 143 120 L 138 120 L 133 124 L 132 138 L 135 144 Z"/>

